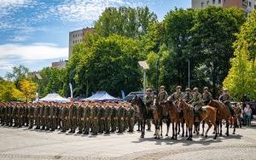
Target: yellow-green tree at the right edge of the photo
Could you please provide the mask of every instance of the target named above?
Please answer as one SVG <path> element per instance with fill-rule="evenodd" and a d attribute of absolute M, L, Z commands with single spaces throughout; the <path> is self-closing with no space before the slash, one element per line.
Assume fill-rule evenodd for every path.
<path fill-rule="evenodd" d="M 236 57 L 231 60 L 231 69 L 224 79 L 224 87 L 236 100 L 244 94 L 256 99 L 256 11 L 249 15 L 247 21 L 236 34 L 234 43 Z"/>

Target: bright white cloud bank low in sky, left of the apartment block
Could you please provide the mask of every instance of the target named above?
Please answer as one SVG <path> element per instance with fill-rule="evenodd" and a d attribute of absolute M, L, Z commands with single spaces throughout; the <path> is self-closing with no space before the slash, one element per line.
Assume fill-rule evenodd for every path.
<path fill-rule="evenodd" d="M 67 53 L 67 48 L 61 48 L 52 43 L 2 44 L 0 45 L 0 70 L 26 63 L 34 63 L 34 66 L 37 66 L 38 60 L 67 59 Z"/>

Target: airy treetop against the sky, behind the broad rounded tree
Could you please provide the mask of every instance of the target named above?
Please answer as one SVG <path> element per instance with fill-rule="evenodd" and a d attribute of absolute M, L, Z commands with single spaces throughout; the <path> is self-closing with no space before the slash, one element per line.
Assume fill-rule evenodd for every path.
<path fill-rule="evenodd" d="M 125 37 L 139 37 L 146 33 L 150 23 L 156 22 L 156 14 L 145 8 L 108 8 L 96 21 L 96 32 L 102 37 L 119 34 Z M 140 31 L 141 30 L 141 31 Z"/>

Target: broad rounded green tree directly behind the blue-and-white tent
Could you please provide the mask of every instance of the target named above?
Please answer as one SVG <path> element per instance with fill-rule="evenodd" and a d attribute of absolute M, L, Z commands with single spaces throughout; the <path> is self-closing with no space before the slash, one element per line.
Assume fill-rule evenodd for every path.
<path fill-rule="evenodd" d="M 83 54 L 76 69 L 76 81 L 82 85 L 81 93 L 106 90 L 118 96 L 122 89 L 126 93 L 140 89 L 138 51 L 138 42 L 129 37 L 100 37 L 90 52 Z"/>

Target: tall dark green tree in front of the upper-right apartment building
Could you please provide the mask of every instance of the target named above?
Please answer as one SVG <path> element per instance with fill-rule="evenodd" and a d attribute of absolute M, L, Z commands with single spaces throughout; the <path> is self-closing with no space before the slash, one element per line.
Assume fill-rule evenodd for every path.
<path fill-rule="evenodd" d="M 239 31 L 244 20 L 243 10 L 235 8 L 208 7 L 198 10 L 195 14 L 195 25 L 191 29 L 191 58 L 196 60 L 197 71 L 203 72 L 207 69 L 206 76 L 210 78 L 205 77 L 206 81 L 202 84 L 211 86 L 213 95 L 217 94 L 217 89 L 221 87 L 230 70 L 230 58 L 234 56 L 232 44 L 236 40 L 235 33 Z M 199 77 L 194 76 L 194 79 L 197 78 Z M 203 87 L 200 83 L 197 85 Z"/>

